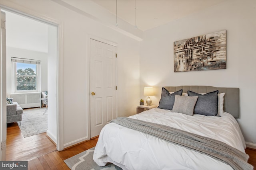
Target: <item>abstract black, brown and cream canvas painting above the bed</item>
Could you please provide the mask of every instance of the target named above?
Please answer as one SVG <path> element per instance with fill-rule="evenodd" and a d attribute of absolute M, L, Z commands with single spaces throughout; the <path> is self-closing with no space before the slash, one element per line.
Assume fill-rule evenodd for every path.
<path fill-rule="evenodd" d="M 226 69 L 226 30 L 174 42 L 174 72 Z"/>

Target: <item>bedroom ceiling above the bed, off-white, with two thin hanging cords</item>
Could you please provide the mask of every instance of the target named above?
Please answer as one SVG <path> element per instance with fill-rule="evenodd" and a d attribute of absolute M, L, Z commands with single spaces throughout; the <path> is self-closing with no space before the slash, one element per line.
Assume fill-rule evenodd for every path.
<path fill-rule="evenodd" d="M 92 0 L 116 15 L 116 0 Z M 142 31 L 183 18 L 227 0 L 117 0 L 117 16 Z M 118 21 L 117 21 L 118 22 Z"/>

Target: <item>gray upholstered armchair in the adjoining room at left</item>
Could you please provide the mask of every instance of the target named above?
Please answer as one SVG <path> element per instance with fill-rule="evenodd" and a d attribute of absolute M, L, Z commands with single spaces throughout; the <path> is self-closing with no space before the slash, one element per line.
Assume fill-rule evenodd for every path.
<path fill-rule="evenodd" d="M 10 98 L 12 101 L 12 98 Z M 12 104 L 6 105 L 7 123 L 12 123 L 22 120 L 23 109 L 17 102 L 12 102 Z"/>

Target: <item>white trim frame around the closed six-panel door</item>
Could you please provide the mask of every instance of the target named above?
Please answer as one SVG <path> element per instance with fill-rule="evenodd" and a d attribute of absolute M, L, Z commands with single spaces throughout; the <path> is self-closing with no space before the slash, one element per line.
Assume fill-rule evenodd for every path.
<path fill-rule="evenodd" d="M 86 80 L 87 81 L 87 88 L 86 88 L 86 103 L 87 103 L 87 134 L 88 134 L 88 140 L 91 138 L 91 129 L 90 129 L 90 40 L 93 39 L 95 41 L 100 41 L 102 43 L 106 43 L 112 46 L 116 47 L 116 54 L 118 54 L 118 43 L 114 43 L 112 41 L 109 41 L 107 39 L 102 39 L 100 37 L 97 37 L 95 35 L 87 34 L 87 57 L 86 57 Z M 118 87 L 118 57 L 116 58 L 116 86 Z M 116 90 L 116 117 L 118 117 L 118 88 Z"/>

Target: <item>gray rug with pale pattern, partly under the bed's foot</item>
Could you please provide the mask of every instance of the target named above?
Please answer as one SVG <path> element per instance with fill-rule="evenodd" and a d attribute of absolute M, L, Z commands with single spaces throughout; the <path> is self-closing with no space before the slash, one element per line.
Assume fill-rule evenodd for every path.
<path fill-rule="evenodd" d="M 64 160 L 64 162 L 71 170 L 122 170 L 122 168 L 112 163 L 108 163 L 106 166 L 98 166 L 92 159 L 94 148 L 95 147 L 72 156 Z"/>

